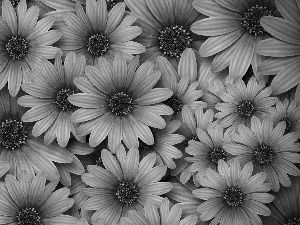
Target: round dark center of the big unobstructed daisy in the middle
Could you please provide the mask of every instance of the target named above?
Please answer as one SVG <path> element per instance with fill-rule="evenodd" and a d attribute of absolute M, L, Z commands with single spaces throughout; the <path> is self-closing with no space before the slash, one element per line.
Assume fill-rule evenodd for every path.
<path fill-rule="evenodd" d="M 118 92 L 111 96 L 108 107 L 116 116 L 126 116 L 132 109 L 132 98 L 124 92 Z"/>

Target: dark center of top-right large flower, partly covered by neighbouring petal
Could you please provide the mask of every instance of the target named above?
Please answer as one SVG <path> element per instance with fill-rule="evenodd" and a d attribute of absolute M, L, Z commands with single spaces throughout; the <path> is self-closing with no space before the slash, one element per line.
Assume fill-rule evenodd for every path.
<path fill-rule="evenodd" d="M 266 31 L 260 25 L 260 18 L 263 16 L 272 16 L 272 11 L 266 6 L 255 5 L 248 9 L 242 16 L 242 26 L 246 28 L 251 35 L 263 35 Z"/>

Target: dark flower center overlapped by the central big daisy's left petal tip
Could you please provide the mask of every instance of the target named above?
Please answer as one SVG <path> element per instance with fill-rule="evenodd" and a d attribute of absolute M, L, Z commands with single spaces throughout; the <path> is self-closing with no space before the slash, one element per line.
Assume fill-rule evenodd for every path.
<path fill-rule="evenodd" d="M 72 111 L 75 109 L 75 106 L 72 105 L 68 101 L 68 97 L 70 95 L 75 94 L 74 90 L 71 90 L 69 88 L 63 88 L 59 92 L 57 92 L 56 97 L 54 99 L 54 104 L 56 107 L 61 111 Z"/>

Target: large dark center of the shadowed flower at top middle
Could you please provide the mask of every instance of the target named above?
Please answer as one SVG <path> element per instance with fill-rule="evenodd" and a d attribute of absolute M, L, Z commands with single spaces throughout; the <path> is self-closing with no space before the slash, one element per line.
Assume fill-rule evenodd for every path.
<path fill-rule="evenodd" d="M 190 33 L 182 26 L 173 25 L 160 31 L 159 48 L 164 55 L 179 58 L 182 52 L 191 47 Z"/>

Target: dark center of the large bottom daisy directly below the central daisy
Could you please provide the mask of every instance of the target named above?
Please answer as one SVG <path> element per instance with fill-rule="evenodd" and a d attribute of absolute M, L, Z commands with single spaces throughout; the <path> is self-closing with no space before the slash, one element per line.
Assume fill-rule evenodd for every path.
<path fill-rule="evenodd" d="M 132 181 L 123 181 L 119 184 L 116 195 L 120 202 L 132 205 L 139 197 L 139 189 Z"/>

